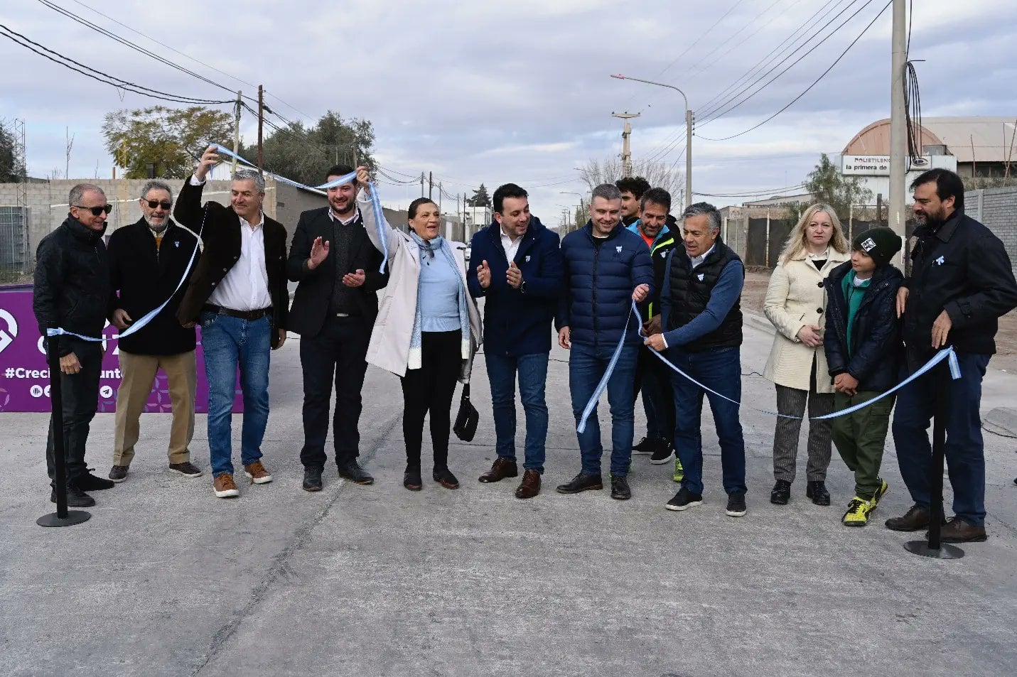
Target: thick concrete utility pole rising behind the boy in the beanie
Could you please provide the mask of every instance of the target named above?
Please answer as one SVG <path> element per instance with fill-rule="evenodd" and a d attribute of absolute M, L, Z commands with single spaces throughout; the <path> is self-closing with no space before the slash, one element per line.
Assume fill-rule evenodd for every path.
<path fill-rule="evenodd" d="M 904 203 L 907 168 L 907 123 L 904 103 L 904 67 L 907 60 L 907 7 L 906 0 L 893 0 L 893 40 L 890 69 L 890 213 L 888 225 L 893 232 L 904 237 L 907 214 Z M 903 251 L 903 250 L 902 250 Z"/>

